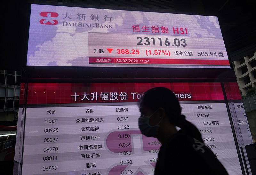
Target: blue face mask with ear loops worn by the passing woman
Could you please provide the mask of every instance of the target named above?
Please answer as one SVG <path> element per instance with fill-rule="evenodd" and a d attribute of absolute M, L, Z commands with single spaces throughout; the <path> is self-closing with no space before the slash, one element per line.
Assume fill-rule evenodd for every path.
<path fill-rule="evenodd" d="M 157 110 L 156 110 L 157 111 Z M 157 138 L 158 135 L 158 130 L 159 130 L 159 123 L 162 121 L 160 120 L 155 126 L 150 126 L 149 125 L 149 118 L 154 115 L 155 112 L 153 112 L 153 114 L 151 114 L 150 116 L 145 116 L 145 117 L 140 117 L 139 120 L 139 128 L 140 128 L 140 132 L 147 136 L 147 137 L 155 137 Z"/>

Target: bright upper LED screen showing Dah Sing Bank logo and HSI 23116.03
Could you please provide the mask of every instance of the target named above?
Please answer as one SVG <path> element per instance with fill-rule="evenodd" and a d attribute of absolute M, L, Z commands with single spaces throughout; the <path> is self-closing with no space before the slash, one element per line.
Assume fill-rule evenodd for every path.
<path fill-rule="evenodd" d="M 36 4 L 27 65 L 230 68 L 217 17 Z"/>

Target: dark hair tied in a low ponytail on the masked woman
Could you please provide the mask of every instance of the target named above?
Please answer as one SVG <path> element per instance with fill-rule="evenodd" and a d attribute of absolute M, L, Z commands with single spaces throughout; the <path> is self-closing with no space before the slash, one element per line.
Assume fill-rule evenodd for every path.
<path fill-rule="evenodd" d="M 181 128 L 180 132 L 204 142 L 196 126 L 188 122 L 184 115 L 181 115 L 180 103 L 170 89 L 164 87 L 149 89 L 141 97 L 139 104 L 153 111 L 163 108 L 167 113 L 169 121 Z"/>

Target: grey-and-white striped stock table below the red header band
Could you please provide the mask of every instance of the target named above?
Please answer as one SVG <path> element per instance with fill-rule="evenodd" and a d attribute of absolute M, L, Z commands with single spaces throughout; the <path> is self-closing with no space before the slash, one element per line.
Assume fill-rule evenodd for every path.
<path fill-rule="evenodd" d="M 181 102 L 182 114 L 229 173 L 241 172 L 226 104 L 202 102 Z M 161 143 L 140 133 L 139 116 L 135 103 L 27 108 L 22 174 L 153 174 Z"/>

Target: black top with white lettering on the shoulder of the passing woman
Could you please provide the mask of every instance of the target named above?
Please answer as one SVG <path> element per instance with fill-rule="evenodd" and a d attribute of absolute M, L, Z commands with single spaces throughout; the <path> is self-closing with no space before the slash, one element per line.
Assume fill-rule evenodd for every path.
<path fill-rule="evenodd" d="M 228 172 L 211 149 L 180 130 L 160 148 L 155 175 L 165 174 L 227 175 Z"/>

